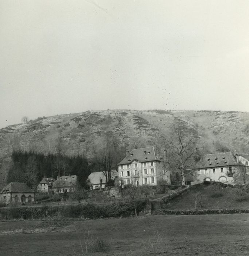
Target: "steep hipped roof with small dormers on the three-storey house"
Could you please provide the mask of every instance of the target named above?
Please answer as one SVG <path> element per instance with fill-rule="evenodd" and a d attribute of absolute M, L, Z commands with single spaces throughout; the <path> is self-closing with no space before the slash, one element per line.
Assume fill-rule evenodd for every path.
<path fill-rule="evenodd" d="M 133 149 L 129 153 L 129 156 L 125 157 L 118 165 L 127 165 L 135 159 L 139 162 L 161 161 L 160 158 L 156 156 L 155 148 L 152 146 Z"/>

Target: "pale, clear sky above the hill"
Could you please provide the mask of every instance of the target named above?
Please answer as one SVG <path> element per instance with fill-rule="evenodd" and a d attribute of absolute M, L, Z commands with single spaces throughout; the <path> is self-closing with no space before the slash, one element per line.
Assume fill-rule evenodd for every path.
<path fill-rule="evenodd" d="M 248 13 L 248 0 L 1 0 L 0 128 L 87 110 L 249 112 Z"/>

